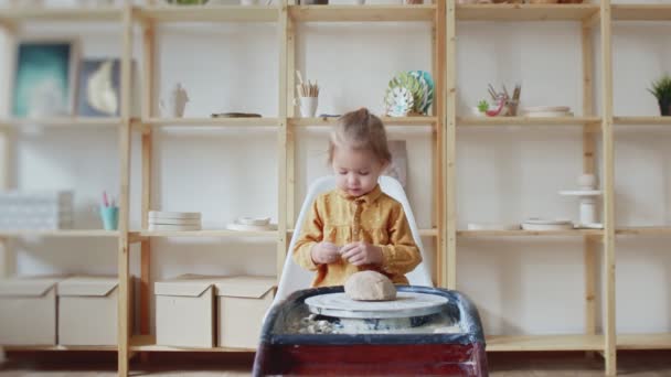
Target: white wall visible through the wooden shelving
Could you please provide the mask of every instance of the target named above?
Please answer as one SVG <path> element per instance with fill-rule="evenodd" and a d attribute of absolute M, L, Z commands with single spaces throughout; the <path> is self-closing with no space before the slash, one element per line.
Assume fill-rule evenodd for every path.
<path fill-rule="evenodd" d="M 86 56 L 118 53 L 116 34 L 94 28 L 83 36 Z M 54 29 L 50 29 L 53 31 Z M 55 29 L 73 35 L 76 29 Z M 36 31 L 44 32 L 44 31 Z M 116 32 L 116 31 L 115 31 Z M 297 65 L 319 79 L 319 112 L 360 106 L 382 111 L 392 75 L 430 69 L 426 24 L 300 25 Z M 487 96 L 487 83 L 522 83 L 523 106 L 567 105 L 582 111 L 579 29 L 574 23 L 460 23 L 458 109 L 466 114 Z M 614 28 L 616 115 L 656 115 L 646 91 L 671 71 L 669 25 Z M 598 35 L 597 35 L 598 36 Z M 136 35 L 138 61 L 141 58 Z M 160 37 L 160 87 L 189 90 L 187 116 L 213 111 L 277 114 L 278 36 L 274 25 L 169 26 Z M 595 40 L 595 51 L 598 37 Z M 600 57 L 595 55 L 595 63 Z M 0 62 L 2 60 L 0 58 Z M 598 73 L 598 71 L 597 71 Z M 598 94 L 600 79 L 595 77 Z M 600 106 L 595 100 L 596 108 Z M 430 132 L 391 129 L 408 142 L 409 187 L 419 227 L 432 219 Z M 78 227 L 97 227 L 90 212 L 99 192 L 118 186 L 116 133 L 81 129 L 21 133 L 15 182 L 22 188 L 75 187 Z M 616 132 L 617 224 L 663 225 L 671 216 L 671 141 L 668 130 L 628 128 Z M 327 174 L 324 130 L 298 132 L 297 205 L 310 181 Z M 155 136 L 153 206 L 200 211 L 205 227 L 222 227 L 241 215 L 277 217 L 276 136 L 256 131 L 158 131 Z M 475 128 L 458 131 L 458 224 L 520 222 L 529 216 L 577 219 L 577 203 L 556 194 L 575 186 L 582 170 L 578 128 Z M 140 142 L 134 134 L 131 225 L 140 226 Z M 430 252 L 434 243 L 425 239 Z M 458 284 L 476 301 L 490 334 L 572 333 L 583 330 L 583 245 L 577 238 L 459 239 Z M 617 324 L 620 332 L 671 331 L 669 239 L 622 238 L 617 243 Z M 116 272 L 115 243 L 26 240 L 17 270 Z M 275 244 L 254 239 L 152 240 L 152 276 L 263 273 L 275 271 Z M 138 273 L 134 248 L 132 271 Z"/>

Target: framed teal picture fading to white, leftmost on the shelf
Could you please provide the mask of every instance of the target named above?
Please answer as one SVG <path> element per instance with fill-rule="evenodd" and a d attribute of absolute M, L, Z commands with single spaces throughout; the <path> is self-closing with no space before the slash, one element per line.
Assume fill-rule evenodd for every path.
<path fill-rule="evenodd" d="M 17 46 L 12 116 L 70 116 L 74 111 L 77 43 L 73 40 L 24 40 Z"/>

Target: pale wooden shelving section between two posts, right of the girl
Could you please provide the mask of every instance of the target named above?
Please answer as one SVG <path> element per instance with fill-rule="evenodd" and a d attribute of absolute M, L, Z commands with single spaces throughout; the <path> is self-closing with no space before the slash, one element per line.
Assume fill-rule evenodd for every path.
<path fill-rule="evenodd" d="M 564 7 L 566 6 L 566 7 Z M 448 6 L 449 8 L 449 6 Z M 456 289 L 458 243 L 457 238 L 491 238 L 491 237 L 582 237 L 585 248 L 585 334 L 581 335 L 524 335 L 524 336 L 491 336 L 488 337 L 488 351 L 599 351 L 605 358 L 607 375 L 616 373 L 616 343 L 615 343 L 615 251 L 614 251 L 614 193 L 613 193 L 613 69 L 610 55 L 610 2 L 601 0 L 599 3 L 586 4 L 461 4 L 456 6 L 454 22 L 490 21 L 490 22 L 524 22 L 524 21 L 573 21 L 582 31 L 583 54 L 583 108 L 582 116 L 565 118 L 525 118 L 525 117 L 457 117 L 456 111 L 448 111 L 448 142 L 458 140 L 457 129 L 465 127 L 557 127 L 575 126 L 583 129 L 583 172 L 595 173 L 597 170 L 595 152 L 596 137 L 601 138 L 601 190 L 604 215 L 604 229 L 579 229 L 564 231 L 529 231 L 529 230 L 458 230 L 457 218 L 450 207 L 456 205 L 456 173 L 449 166 L 456 165 L 456 144 L 451 141 L 448 147 L 447 159 L 447 237 L 455 239 L 448 244 L 448 261 L 451 266 L 448 288 Z M 448 18 L 448 24 L 452 20 Z M 600 33 L 601 56 L 601 114 L 594 112 L 594 57 L 592 34 L 595 30 Z M 458 37 L 458 35 L 456 35 Z M 451 39 L 451 35 L 448 35 Z M 450 49 L 448 49 L 449 51 Z M 455 52 L 456 46 L 451 47 Z M 448 53 L 448 58 L 449 58 Z M 451 63 L 455 60 L 451 58 Z M 450 65 L 448 63 L 448 65 Z M 458 67 L 457 67 L 458 69 Z M 450 76 L 456 80 L 456 73 Z M 448 78 L 448 89 L 456 86 Z M 450 103 L 451 101 L 451 103 Z M 448 99 L 448 108 L 456 108 L 456 97 Z M 451 118 L 451 119 L 450 119 Z M 599 243 L 598 240 L 601 240 Z M 596 334 L 596 255 L 603 247 L 605 273 L 603 283 L 605 297 L 603 327 L 604 334 Z M 454 251 L 452 251 L 454 250 Z"/>

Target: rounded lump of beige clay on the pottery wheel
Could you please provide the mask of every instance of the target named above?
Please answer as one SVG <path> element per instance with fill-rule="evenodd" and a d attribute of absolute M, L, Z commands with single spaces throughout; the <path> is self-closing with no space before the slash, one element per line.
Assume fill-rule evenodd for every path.
<path fill-rule="evenodd" d="M 380 272 L 361 271 L 345 281 L 344 293 L 352 300 L 388 301 L 396 299 L 396 287 Z"/>

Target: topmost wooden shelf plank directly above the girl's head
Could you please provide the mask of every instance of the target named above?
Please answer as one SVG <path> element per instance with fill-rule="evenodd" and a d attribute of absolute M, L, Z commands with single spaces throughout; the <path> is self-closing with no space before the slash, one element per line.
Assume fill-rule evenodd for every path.
<path fill-rule="evenodd" d="M 290 6 L 289 17 L 299 22 L 434 21 L 435 4 L 417 6 Z"/>

